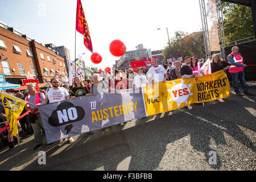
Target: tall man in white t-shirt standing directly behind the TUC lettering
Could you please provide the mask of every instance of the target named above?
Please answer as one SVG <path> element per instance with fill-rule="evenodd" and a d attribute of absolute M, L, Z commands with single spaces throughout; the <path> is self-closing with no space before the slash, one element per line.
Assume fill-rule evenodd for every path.
<path fill-rule="evenodd" d="M 148 69 L 147 79 L 148 83 L 156 84 L 158 82 L 165 82 L 167 79 L 167 71 L 164 69 L 162 65 L 158 65 L 158 61 L 156 59 L 151 59 L 152 67 Z"/>

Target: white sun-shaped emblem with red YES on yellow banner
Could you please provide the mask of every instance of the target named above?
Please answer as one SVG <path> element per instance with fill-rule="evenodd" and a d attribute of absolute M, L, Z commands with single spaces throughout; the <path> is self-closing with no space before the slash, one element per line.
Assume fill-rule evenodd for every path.
<path fill-rule="evenodd" d="M 184 82 L 183 79 L 181 82 Z M 190 87 L 192 84 L 183 84 L 179 83 L 176 84 L 174 81 L 172 81 L 174 86 L 172 86 L 171 89 L 168 89 L 167 91 L 171 93 L 170 101 L 177 102 L 177 106 L 179 107 L 181 103 L 185 102 L 185 104 L 188 104 L 188 97 L 191 96 L 193 93 L 190 91 Z"/>

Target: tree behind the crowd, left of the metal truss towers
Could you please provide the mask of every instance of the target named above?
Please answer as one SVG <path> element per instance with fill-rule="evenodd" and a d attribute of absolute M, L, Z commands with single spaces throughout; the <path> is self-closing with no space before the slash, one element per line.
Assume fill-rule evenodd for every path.
<path fill-rule="evenodd" d="M 177 57 L 196 56 L 205 57 L 203 32 L 194 32 L 188 35 L 187 32 L 175 31 L 171 38 L 172 56 Z M 164 61 L 170 59 L 170 48 L 163 49 Z"/>

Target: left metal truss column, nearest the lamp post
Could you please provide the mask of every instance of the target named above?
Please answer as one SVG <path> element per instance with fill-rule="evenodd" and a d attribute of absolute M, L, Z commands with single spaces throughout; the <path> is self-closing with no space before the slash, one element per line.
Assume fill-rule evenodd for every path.
<path fill-rule="evenodd" d="M 200 5 L 200 12 L 201 12 L 202 26 L 203 26 L 205 56 L 206 56 L 206 59 L 208 59 L 211 56 L 211 54 L 210 54 L 210 39 L 209 39 L 207 15 L 206 15 L 206 10 L 205 10 L 204 0 L 199 0 L 199 5 Z"/>

